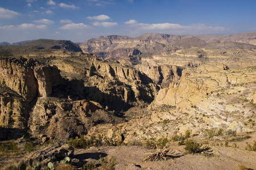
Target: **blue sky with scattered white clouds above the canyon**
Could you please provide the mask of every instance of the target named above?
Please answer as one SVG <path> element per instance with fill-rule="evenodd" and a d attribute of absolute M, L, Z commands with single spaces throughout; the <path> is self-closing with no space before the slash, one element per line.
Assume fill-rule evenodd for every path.
<path fill-rule="evenodd" d="M 0 0 L 0 42 L 251 31 L 255 0 Z"/>

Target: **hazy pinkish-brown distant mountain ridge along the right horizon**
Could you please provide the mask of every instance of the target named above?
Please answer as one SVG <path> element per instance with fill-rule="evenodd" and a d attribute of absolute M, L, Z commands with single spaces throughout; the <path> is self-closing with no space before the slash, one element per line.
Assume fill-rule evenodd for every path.
<path fill-rule="evenodd" d="M 256 32 L 237 33 L 233 35 L 168 35 L 163 33 L 144 33 L 138 37 L 100 36 L 80 44 L 84 52 L 94 53 L 101 57 L 117 59 L 129 57 L 136 53 L 143 56 L 153 56 L 161 53 L 173 54 L 179 49 L 245 49 L 256 48 Z M 139 52 L 138 52 L 139 50 Z M 112 58 L 112 59 L 111 59 Z"/>

